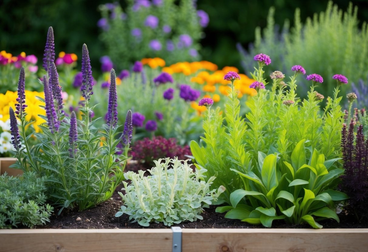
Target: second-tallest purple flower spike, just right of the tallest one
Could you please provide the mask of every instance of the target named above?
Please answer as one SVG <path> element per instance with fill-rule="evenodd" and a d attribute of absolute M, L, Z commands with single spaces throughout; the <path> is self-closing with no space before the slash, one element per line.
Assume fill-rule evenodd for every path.
<path fill-rule="evenodd" d="M 92 92 L 93 87 L 93 77 L 92 77 L 92 70 L 91 70 L 91 62 L 89 60 L 89 53 L 86 44 L 82 46 L 82 96 L 85 98 L 86 101 L 89 100 Z"/>

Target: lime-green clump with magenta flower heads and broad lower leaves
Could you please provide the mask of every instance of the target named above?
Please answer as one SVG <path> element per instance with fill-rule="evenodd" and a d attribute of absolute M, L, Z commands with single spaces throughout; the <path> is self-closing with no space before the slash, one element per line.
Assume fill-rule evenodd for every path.
<path fill-rule="evenodd" d="M 338 221 L 334 202 L 347 198 L 333 190 L 343 173 L 339 162 L 343 112 L 338 93 L 347 79 L 333 77 L 337 87 L 322 111 L 319 103 L 323 96 L 314 90 L 323 82 L 321 76 L 307 76 L 311 90 L 301 101 L 296 87 L 297 79 L 305 74 L 302 66 L 292 67 L 294 75 L 287 83 L 282 72 L 273 72 L 267 90 L 263 66 L 271 60 L 265 54 L 254 59 L 258 68 L 252 73 L 256 82 L 250 87 L 258 94 L 246 102 L 250 109 L 246 118 L 238 113 L 240 104 L 233 86 L 238 76 L 233 75 L 225 116 L 220 108 L 212 111 L 208 107 L 205 136 L 199 143 L 191 142 L 197 168 L 205 168 L 206 176 L 217 177 L 214 186 L 221 183 L 228 189 L 221 199 L 229 206 L 217 211 L 229 211 L 228 218 L 266 227 L 275 219 L 307 222 L 314 228 L 322 226 L 313 216 Z"/>

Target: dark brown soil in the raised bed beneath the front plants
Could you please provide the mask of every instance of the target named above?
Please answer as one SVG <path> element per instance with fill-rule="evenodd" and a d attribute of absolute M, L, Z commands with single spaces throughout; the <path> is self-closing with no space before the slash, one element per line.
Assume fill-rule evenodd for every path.
<path fill-rule="evenodd" d="M 127 166 L 127 170 L 137 171 L 142 169 L 142 165 L 131 164 Z M 50 218 L 50 223 L 45 226 L 37 226 L 36 228 L 144 228 L 137 222 L 131 223 L 128 215 L 115 217 L 115 213 L 120 209 L 121 197 L 118 191 L 121 190 L 119 186 L 112 199 L 99 204 L 98 206 L 78 212 L 77 210 L 64 210 L 60 216 L 57 216 L 57 210 Z M 224 218 L 225 213 L 216 213 L 216 206 L 205 208 L 202 213 L 203 220 L 195 222 L 184 222 L 176 224 L 181 228 L 264 228 L 262 225 L 251 225 L 240 220 L 232 220 Z M 350 215 L 344 212 L 339 214 L 340 223 L 335 220 L 323 220 L 319 223 L 323 228 L 368 228 L 367 222 L 356 222 Z M 311 228 L 307 224 L 289 225 L 285 224 L 283 220 L 275 220 L 272 225 L 273 228 Z M 163 223 L 151 223 L 147 228 L 170 228 L 164 226 Z"/>

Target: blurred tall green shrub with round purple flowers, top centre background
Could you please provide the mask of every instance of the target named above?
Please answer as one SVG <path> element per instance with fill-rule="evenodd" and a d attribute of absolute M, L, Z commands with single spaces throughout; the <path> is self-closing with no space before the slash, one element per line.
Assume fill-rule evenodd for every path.
<path fill-rule="evenodd" d="M 127 1 L 101 5 L 100 39 L 118 69 L 145 57 L 164 58 L 168 64 L 198 59 L 202 27 L 208 15 L 197 10 L 192 0 Z M 206 20 L 205 20 L 206 19 Z"/>

